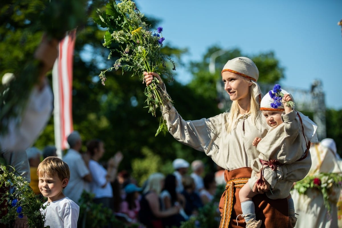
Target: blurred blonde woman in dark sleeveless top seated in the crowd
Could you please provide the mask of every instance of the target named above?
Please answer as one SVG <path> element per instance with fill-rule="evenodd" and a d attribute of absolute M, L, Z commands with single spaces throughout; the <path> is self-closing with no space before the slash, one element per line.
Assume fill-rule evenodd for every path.
<path fill-rule="evenodd" d="M 151 174 L 143 190 L 140 200 L 139 220 L 146 228 L 162 228 L 163 218 L 178 214 L 180 206 L 170 207 L 168 210 L 161 210 L 159 194 L 164 187 L 165 176 L 161 173 Z"/>

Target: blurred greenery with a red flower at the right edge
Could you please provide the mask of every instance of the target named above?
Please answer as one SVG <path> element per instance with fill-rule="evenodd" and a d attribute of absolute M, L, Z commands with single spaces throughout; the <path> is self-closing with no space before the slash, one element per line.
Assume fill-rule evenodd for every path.
<path fill-rule="evenodd" d="M 342 174 L 338 173 L 319 173 L 317 175 L 306 176 L 301 181 L 298 181 L 294 185 L 294 189 L 299 194 L 305 194 L 307 189 L 317 189 L 323 195 L 324 206 L 330 213 L 331 207 L 329 203 L 329 195 L 333 192 L 333 188 L 342 188 Z"/>

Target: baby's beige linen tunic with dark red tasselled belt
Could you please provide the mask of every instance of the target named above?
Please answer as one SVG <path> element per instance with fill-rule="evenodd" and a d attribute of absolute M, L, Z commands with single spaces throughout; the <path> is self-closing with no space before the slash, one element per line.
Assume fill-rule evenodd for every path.
<path fill-rule="evenodd" d="M 258 180 L 257 173 L 262 169 L 260 159 L 264 161 L 276 160 L 281 164 L 288 164 L 294 163 L 304 156 L 306 142 L 297 111 L 292 110 L 287 114 L 284 113 L 281 115 L 281 119 L 283 123 L 276 128 L 271 128 L 257 146 L 257 151 L 260 154 L 252 162 L 252 176 L 248 181 L 251 189 L 253 189 L 255 181 Z M 309 172 L 310 166 L 311 161 L 307 160 L 307 170 L 305 173 L 304 170 L 302 172 L 303 178 Z M 272 191 L 266 192 L 267 197 L 270 199 L 288 197 L 293 181 L 290 179 L 277 180 L 277 170 L 272 172 L 271 167 L 266 165 L 263 168 L 272 176 L 272 180 L 268 181 Z"/>

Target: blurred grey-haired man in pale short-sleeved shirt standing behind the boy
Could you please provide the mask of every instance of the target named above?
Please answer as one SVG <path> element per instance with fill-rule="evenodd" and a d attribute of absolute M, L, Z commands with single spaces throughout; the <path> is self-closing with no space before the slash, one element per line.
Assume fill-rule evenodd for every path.
<path fill-rule="evenodd" d="M 92 181 L 88 164 L 89 159 L 83 159 L 80 151 L 82 139 L 78 131 L 73 131 L 67 138 L 70 149 L 63 157 L 70 169 L 70 180 L 63 190 L 66 197 L 79 204 L 83 190 L 90 192 L 89 183 Z"/>

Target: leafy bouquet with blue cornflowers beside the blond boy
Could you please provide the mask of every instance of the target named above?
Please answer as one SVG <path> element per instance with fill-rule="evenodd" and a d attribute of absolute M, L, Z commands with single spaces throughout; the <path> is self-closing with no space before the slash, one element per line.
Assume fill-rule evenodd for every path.
<path fill-rule="evenodd" d="M 6 189 L 1 191 L 0 200 L 7 204 L 7 208 L 1 208 L 7 210 L 0 219 L 1 223 L 12 224 L 15 219 L 27 216 L 28 227 L 49 228 L 45 226 L 45 215 L 40 213 L 40 209 L 44 209 L 43 202 L 36 197 L 29 183 L 15 174 L 11 166 L 0 165 L 0 169 L 0 188 Z"/>

